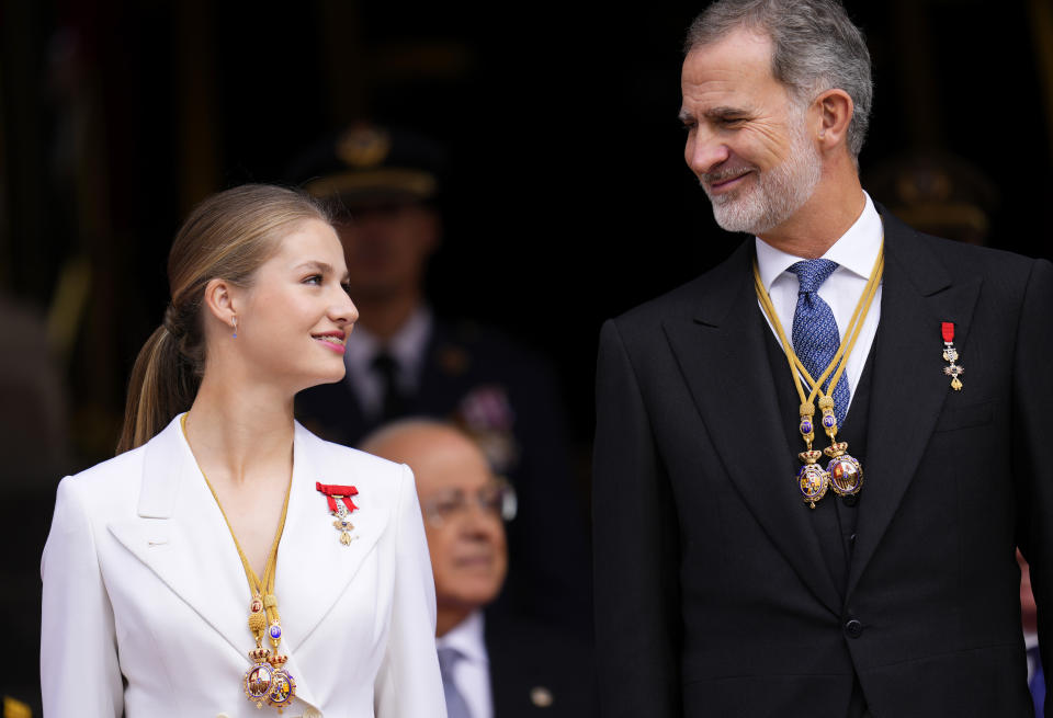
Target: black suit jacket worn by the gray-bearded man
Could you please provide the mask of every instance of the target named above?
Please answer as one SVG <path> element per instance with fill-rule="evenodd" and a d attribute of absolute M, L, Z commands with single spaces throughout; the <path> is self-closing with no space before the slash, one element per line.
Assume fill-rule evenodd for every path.
<path fill-rule="evenodd" d="M 1034 562 L 1053 660 L 1041 623 L 1053 615 L 1053 265 L 883 220 L 843 592 L 794 480 L 803 444 L 788 441 L 797 418 L 779 411 L 752 240 L 603 327 L 593 522 L 605 717 L 842 718 L 853 681 L 879 718 L 1031 715 L 1014 547 Z M 943 321 L 955 324 L 962 391 L 942 372 Z"/>

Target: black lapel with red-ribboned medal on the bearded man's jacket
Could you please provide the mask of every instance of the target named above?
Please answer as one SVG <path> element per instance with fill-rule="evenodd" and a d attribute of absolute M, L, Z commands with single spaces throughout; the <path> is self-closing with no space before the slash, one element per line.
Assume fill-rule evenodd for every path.
<path fill-rule="evenodd" d="M 910 485 L 951 391 L 941 372 L 940 323 L 954 322 L 954 344 L 969 356 L 965 345 L 981 287 L 978 278 L 952 282 L 917 232 L 885 213 L 882 220 L 885 274 L 849 599 Z"/>

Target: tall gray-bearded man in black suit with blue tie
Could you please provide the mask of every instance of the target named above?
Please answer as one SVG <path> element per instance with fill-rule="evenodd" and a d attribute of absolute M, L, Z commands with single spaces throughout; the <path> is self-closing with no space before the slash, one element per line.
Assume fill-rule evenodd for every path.
<path fill-rule="evenodd" d="M 684 159 L 750 237 L 601 333 L 603 716 L 1032 715 L 1015 548 L 1053 647 L 1053 265 L 874 205 L 837 0 L 718 0 L 681 92 Z"/>

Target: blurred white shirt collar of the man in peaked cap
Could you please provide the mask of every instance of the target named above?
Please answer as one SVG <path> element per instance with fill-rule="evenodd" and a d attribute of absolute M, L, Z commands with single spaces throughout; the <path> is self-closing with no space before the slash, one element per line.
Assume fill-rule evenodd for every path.
<path fill-rule="evenodd" d="M 367 417 L 378 417 L 384 408 L 384 384 L 373 369 L 377 352 L 386 351 L 398 362 L 395 381 L 404 392 L 412 394 L 420 384 L 420 369 L 433 322 L 431 310 L 418 307 L 386 344 L 361 324 L 355 324 L 348 335 L 343 352 L 343 363 L 348 367 L 344 381 L 351 383 Z"/>

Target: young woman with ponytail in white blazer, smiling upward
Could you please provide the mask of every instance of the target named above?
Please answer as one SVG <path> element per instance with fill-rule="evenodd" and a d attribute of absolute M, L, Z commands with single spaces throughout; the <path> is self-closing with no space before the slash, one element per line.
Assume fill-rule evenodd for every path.
<path fill-rule="evenodd" d="M 325 212 L 280 187 L 177 235 L 118 455 L 58 489 L 46 716 L 445 715 L 409 469 L 293 419 L 343 377 L 346 272 Z"/>

